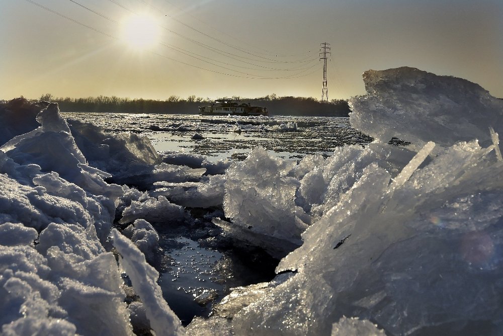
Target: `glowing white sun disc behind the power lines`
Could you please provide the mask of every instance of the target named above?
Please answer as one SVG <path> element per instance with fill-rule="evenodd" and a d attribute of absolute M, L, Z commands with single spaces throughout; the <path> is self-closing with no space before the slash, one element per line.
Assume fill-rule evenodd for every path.
<path fill-rule="evenodd" d="M 159 41 L 160 29 L 153 16 L 133 15 L 122 23 L 121 39 L 135 49 L 150 49 Z"/>

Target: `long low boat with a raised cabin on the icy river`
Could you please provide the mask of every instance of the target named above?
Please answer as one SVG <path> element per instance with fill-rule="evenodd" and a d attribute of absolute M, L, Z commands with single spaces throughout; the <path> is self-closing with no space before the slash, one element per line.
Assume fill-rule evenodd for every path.
<path fill-rule="evenodd" d="M 211 105 L 200 106 L 199 114 L 203 116 L 268 116 L 265 107 L 239 103 L 238 97 L 217 99 Z"/>

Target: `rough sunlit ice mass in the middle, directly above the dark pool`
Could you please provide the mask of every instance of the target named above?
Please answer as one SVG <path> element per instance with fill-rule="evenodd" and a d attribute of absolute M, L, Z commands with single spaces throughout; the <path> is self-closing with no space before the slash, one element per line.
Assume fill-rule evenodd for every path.
<path fill-rule="evenodd" d="M 371 163 L 379 162 L 395 176 L 414 154 L 381 143 L 365 148 L 347 145 L 338 147 L 327 159 L 308 156 L 299 165 L 291 165 L 256 148 L 246 160 L 235 163 L 226 172 L 225 215 L 241 228 L 231 229 L 225 223 L 220 226 L 225 234 L 249 243 L 258 243 L 262 235 L 263 243 L 259 245 L 267 246 L 275 256 L 281 255 L 270 238 L 300 244 L 295 234 L 336 205 Z M 249 237 L 244 238 L 245 235 Z"/>

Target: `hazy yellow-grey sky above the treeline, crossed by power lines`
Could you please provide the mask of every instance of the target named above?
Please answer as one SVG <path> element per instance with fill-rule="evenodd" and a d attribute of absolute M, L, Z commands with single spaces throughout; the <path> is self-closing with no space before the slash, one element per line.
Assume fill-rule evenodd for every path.
<path fill-rule="evenodd" d="M 144 12 L 150 47 L 124 37 Z M 403 65 L 503 97 L 502 0 L 0 0 L 0 42 L 0 99 L 321 98 L 321 42 L 329 99 Z"/>

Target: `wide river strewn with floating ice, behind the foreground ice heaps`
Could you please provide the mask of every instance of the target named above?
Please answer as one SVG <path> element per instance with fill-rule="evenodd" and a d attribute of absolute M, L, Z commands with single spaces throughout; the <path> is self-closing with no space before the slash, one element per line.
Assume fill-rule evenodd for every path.
<path fill-rule="evenodd" d="M 244 159 L 263 146 L 278 157 L 328 156 L 343 144 L 365 144 L 372 138 L 350 127 L 349 118 L 244 117 L 182 114 L 63 113 L 103 126 L 107 132 L 131 131 L 147 136 L 157 151 L 201 154 L 209 161 Z M 198 136 L 200 135 L 200 137 Z"/>

